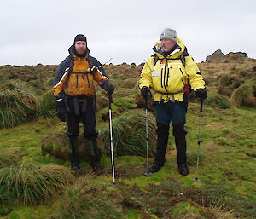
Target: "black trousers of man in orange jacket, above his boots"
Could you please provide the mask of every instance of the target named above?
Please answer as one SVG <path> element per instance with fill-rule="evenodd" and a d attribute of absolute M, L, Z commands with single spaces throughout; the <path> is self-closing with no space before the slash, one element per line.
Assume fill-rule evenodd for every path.
<path fill-rule="evenodd" d="M 77 108 L 75 109 L 73 98 L 68 98 L 69 112 L 67 112 L 68 130 L 66 135 L 70 138 L 79 136 L 79 122 L 82 121 L 84 136 L 88 139 L 96 139 L 95 99 L 94 97 L 85 97 L 84 101 L 86 101 L 85 105 L 84 102 L 77 101 Z"/>

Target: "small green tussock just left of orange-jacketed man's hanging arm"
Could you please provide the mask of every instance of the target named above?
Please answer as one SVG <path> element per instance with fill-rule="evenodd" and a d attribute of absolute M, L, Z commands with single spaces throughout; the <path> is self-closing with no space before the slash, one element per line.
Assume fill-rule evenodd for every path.
<path fill-rule="evenodd" d="M 56 116 L 55 96 L 51 90 L 39 98 L 38 115 L 44 118 L 54 118 Z"/>

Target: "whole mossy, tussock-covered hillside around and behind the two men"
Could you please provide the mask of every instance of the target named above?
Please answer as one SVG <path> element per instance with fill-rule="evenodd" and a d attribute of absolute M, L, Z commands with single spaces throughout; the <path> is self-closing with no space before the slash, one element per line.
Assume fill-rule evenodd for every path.
<path fill-rule="evenodd" d="M 193 181 L 199 132 L 195 95 L 189 97 L 186 124 L 189 175 L 177 172 L 170 130 L 165 166 L 145 177 L 145 112 L 137 88 L 143 65 L 104 66 L 115 85 L 116 184 L 108 152 L 108 98 L 102 89 L 96 89 L 96 127 L 104 169 L 97 175 L 91 172 L 85 148 L 82 170 L 72 173 L 64 135 L 67 127 L 56 118 L 52 96 L 56 66 L 0 66 L 0 218 L 254 218 L 256 61 L 229 54 L 198 65 L 208 97 L 202 118 L 201 182 L 197 183 Z M 6 100 L 15 108 L 6 107 Z M 24 119 L 19 106 L 26 112 Z M 153 112 L 149 118 L 152 163 Z M 9 128 L 4 128 L 6 124 Z M 86 142 L 82 136 L 79 141 L 83 150 Z"/>

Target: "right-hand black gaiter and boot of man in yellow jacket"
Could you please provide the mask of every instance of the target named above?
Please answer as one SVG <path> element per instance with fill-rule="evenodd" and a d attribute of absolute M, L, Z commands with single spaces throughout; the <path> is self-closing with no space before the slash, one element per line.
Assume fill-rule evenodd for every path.
<path fill-rule="evenodd" d="M 187 143 L 186 143 L 186 131 L 184 130 L 184 124 L 173 125 L 173 135 L 175 138 L 175 145 L 177 151 L 177 167 L 179 173 L 183 176 L 189 174 L 187 166 Z"/>

